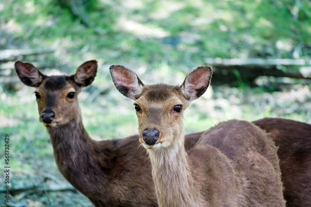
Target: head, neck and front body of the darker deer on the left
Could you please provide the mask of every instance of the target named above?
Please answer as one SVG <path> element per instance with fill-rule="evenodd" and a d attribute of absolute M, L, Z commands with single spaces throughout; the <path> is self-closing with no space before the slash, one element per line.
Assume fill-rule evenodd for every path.
<path fill-rule="evenodd" d="M 80 65 L 75 75 L 46 76 L 30 63 L 15 63 L 23 83 L 35 87 L 39 121 L 46 126 L 59 171 L 95 206 L 155 206 L 151 165 L 138 136 L 96 142 L 83 127 L 78 94 L 95 78 L 96 61 Z M 193 147 L 202 133 L 186 136 Z M 146 161 L 144 161 L 146 160 Z"/>

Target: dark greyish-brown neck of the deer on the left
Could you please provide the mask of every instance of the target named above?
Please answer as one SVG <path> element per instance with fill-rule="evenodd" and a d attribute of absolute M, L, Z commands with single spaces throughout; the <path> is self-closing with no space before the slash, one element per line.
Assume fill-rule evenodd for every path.
<path fill-rule="evenodd" d="M 104 169 L 111 167 L 104 153 L 105 145 L 89 137 L 82 124 L 81 115 L 67 125 L 48 128 L 48 132 L 59 171 L 78 189 L 84 185 L 82 179 L 99 182 L 96 178 L 105 176 L 107 172 Z M 108 144 L 106 147 L 109 146 Z"/>

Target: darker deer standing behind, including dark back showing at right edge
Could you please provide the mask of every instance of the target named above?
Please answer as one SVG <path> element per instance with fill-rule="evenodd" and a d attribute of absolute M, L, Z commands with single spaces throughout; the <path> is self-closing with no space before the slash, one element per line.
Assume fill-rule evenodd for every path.
<path fill-rule="evenodd" d="M 145 156 L 145 149 L 138 148 L 139 137 L 134 135 L 97 142 L 91 139 L 83 127 L 77 96 L 81 88 L 90 85 L 95 78 L 96 61 L 82 64 L 76 74 L 70 76 L 46 76 L 34 65 L 21 61 L 16 62 L 15 69 L 23 83 L 36 89 L 34 97 L 38 103 L 39 121 L 46 125 L 50 134 L 59 171 L 73 187 L 88 197 L 95 206 L 157 205 L 151 163 L 149 157 Z M 48 88 L 45 88 L 46 84 Z M 67 94 L 73 96 L 73 100 L 63 97 L 68 88 L 75 90 L 74 94 Z M 49 107 L 48 100 L 54 101 Z M 54 114 L 48 115 L 46 109 L 51 109 Z M 64 120 L 63 117 L 68 119 Z M 60 119 L 63 120 L 58 123 L 57 120 Z M 279 146 L 286 200 L 292 203 L 292 207 L 311 205 L 310 195 L 304 193 L 308 188 L 306 183 L 311 183 L 308 168 L 311 166 L 311 137 L 308 136 L 311 125 L 286 119 L 261 119 L 253 123 L 274 133 L 273 140 Z M 186 151 L 194 146 L 202 133 L 185 136 Z M 293 148 L 296 140 L 305 144 L 287 159 L 286 153 Z M 295 162 L 300 159 L 300 154 L 304 154 L 304 160 L 309 159 L 309 162 Z M 298 202 L 294 203 L 295 199 Z"/>

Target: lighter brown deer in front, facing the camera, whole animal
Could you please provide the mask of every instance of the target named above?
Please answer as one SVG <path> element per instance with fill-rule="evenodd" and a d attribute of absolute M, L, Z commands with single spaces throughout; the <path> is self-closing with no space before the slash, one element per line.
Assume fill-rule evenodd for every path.
<path fill-rule="evenodd" d="M 121 65 L 110 73 L 116 88 L 135 100 L 160 206 L 285 206 L 277 147 L 254 124 L 220 123 L 186 153 L 183 110 L 206 91 L 210 67 L 197 67 L 180 87 L 144 85 Z"/>

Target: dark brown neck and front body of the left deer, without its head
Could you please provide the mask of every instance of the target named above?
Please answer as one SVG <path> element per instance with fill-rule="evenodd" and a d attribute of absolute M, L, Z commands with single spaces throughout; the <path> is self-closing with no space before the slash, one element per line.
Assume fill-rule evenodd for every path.
<path fill-rule="evenodd" d="M 138 136 L 97 142 L 80 121 L 48 128 L 59 171 L 95 206 L 156 206 L 151 165 Z M 187 136 L 186 149 L 202 133 Z"/>

